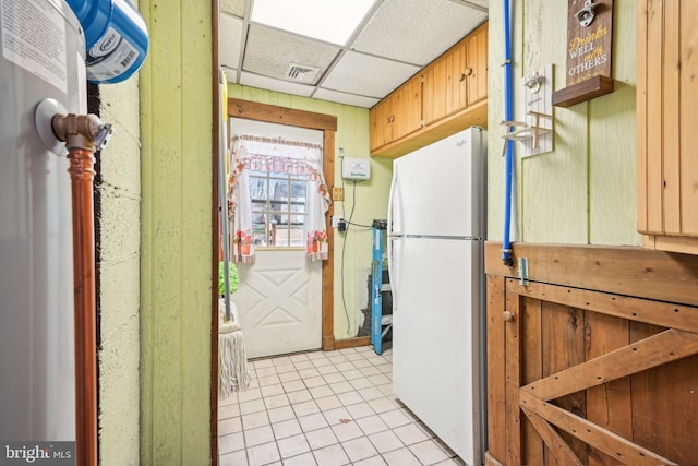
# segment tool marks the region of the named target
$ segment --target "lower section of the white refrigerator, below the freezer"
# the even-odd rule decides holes
[[[393,239],[395,395],[467,464],[481,464],[481,241]]]

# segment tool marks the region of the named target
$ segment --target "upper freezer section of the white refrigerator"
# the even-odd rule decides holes
[[[484,236],[484,138],[469,129],[394,162],[389,235]]]

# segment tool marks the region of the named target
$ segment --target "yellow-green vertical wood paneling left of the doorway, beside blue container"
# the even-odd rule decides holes
[[[141,464],[210,463],[212,7],[141,0]]]

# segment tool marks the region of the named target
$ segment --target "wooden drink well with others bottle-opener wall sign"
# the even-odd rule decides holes
[[[567,87],[553,94],[558,107],[613,92],[613,0],[567,1]]]

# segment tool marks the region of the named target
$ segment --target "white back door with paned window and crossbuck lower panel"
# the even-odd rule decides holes
[[[323,131],[240,118],[230,118],[229,128],[236,160],[250,160],[233,170],[228,224],[240,276],[230,300],[248,357],[320,349],[322,261],[306,255],[320,194],[312,172],[302,168],[310,157],[322,167]],[[320,217],[325,220],[324,213]]]

